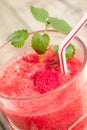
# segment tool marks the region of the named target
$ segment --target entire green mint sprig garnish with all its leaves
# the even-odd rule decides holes
[[[68,33],[71,31],[71,26],[64,20],[59,18],[50,17],[47,10],[44,8],[38,8],[31,6],[30,11],[35,20],[42,22],[45,24],[44,32],[41,34],[40,32],[32,35],[31,38],[31,46],[38,53],[43,54],[46,52],[49,43],[50,37],[47,34],[47,31],[52,28],[58,31],[59,33]],[[8,41],[11,42],[15,47],[21,48],[25,41],[29,37],[29,32],[27,30],[18,30],[13,32],[8,37]],[[58,56],[58,45],[53,47],[56,55]],[[75,47],[73,45],[69,45],[66,49],[66,58],[69,59],[75,54]]]

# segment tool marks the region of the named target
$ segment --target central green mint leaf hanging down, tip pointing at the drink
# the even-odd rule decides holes
[[[41,35],[40,33],[35,33],[32,36],[32,47],[33,49],[39,53],[43,54],[47,50],[47,47],[49,45],[50,38],[47,34]]]

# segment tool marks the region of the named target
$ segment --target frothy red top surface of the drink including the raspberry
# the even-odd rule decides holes
[[[1,68],[0,92],[13,97],[32,97],[59,88],[78,72],[82,64],[76,57],[67,63],[69,73],[62,74],[54,51],[48,50],[42,57],[37,53],[21,53]]]

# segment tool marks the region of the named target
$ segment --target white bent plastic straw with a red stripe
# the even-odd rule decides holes
[[[66,38],[62,41],[59,46],[59,60],[61,71],[66,74],[68,73],[67,61],[65,57],[65,49],[69,45],[69,42],[75,37],[75,35],[80,31],[80,29],[86,24],[87,22],[87,14],[85,14],[79,23],[71,30],[71,32],[66,36]]]

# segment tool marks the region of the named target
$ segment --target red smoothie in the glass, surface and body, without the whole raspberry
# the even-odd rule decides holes
[[[49,55],[45,55],[42,60],[39,60],[37,54],[24,54],[2,68],[0,93],[22,98],[40,96],[28,100],[2,98],[5,108],[1,110],[14,130],[67,130],[81,116],[79,85],[72,83],[61,91],[47,91],[44,96],[34,89],[34,75],[38,70],[49,69],[58,73],[60,88],[77,73],[81,62],[73,57],[68,61],[68,67],[69,74],[63,75],[57,58],[50,53],[50,58]]]

